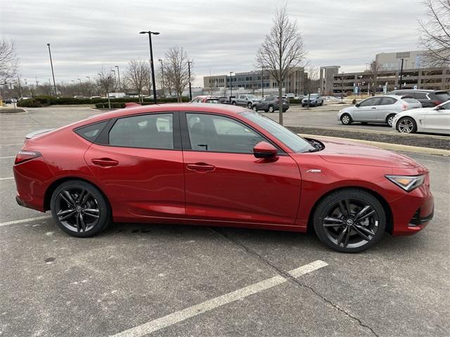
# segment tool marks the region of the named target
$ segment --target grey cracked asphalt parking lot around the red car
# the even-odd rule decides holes
[[[77,239],[15,204],[12,165],[30,131],[91,114],[0,114],[0,336],[450,335],[449,157],[407,154],[431,171],[435,218],[364,253],[314,234],[176,224]]]

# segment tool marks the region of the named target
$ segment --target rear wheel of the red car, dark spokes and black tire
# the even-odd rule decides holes
[[[108,201],[96,187],[83,180],[68,180],[56,187],[50,205],[58,227],[74,237],[91,237],[110,223]]]

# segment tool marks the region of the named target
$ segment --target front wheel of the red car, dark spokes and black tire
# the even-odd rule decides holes
[[[314,230],[330,249],[359,253],[383,237],[386,212],[371,193],[357,188],[323,198],[314,211]]]

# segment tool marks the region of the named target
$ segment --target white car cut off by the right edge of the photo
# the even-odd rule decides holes
[[[401,133],[450,134],[450,100],[437,107],[423,107],[400,112],[392,120],[392,128]]]

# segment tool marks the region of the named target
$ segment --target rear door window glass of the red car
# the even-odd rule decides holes
[[[117,119],[110,130],[109,144],[148,149],[173,149],[172,114],[144,114]]]

